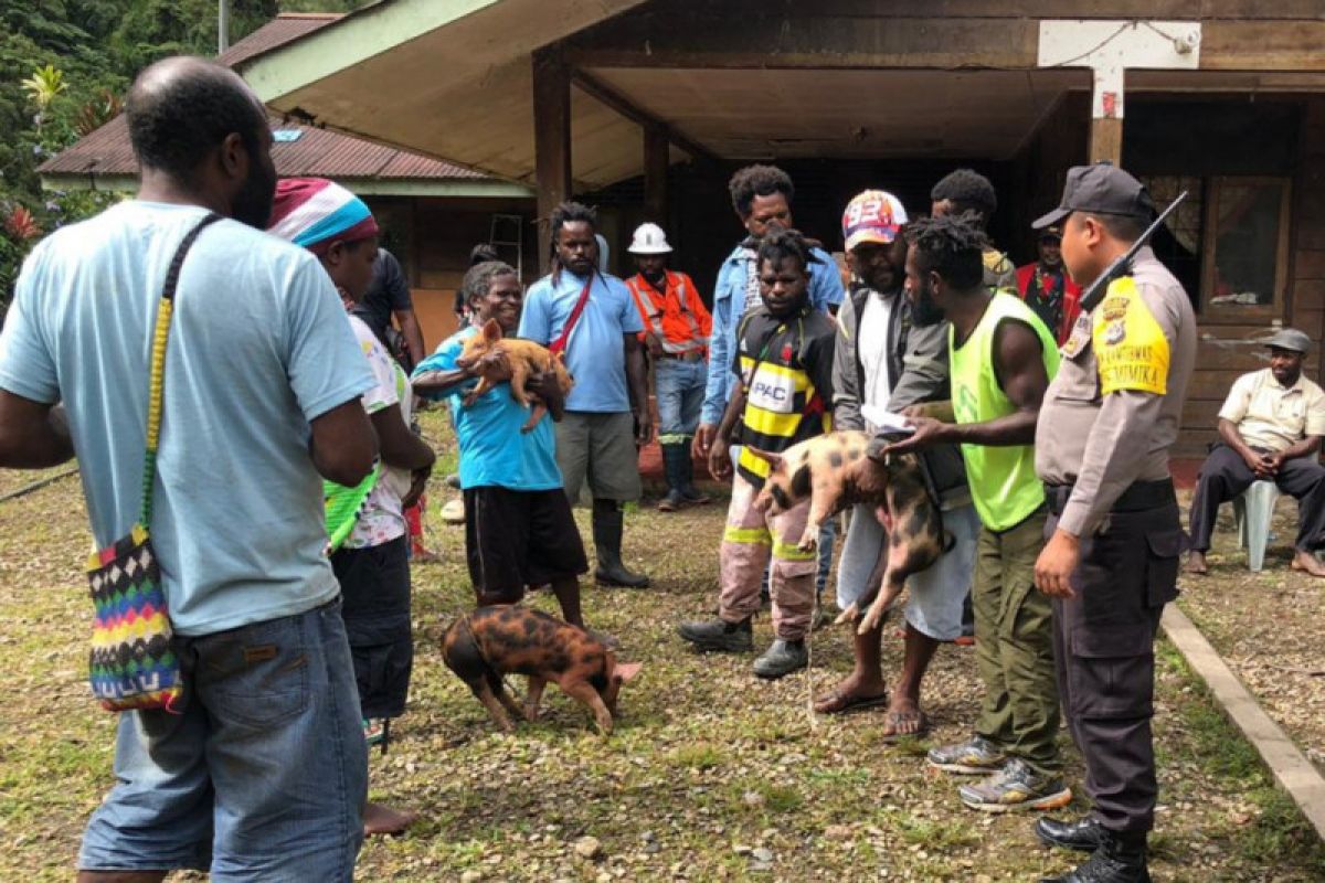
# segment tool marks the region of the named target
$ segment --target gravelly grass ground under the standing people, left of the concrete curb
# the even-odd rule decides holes
[[[444,443],[436,412],[427,418]],[[433,510],[444,495],[437,482]],[[411,710],[391,753],[372,759],[374,797],[424,818],[405,837],[368,843],[359,879],[988,882],[1069,866],[1072,857],[1035,842],[1027,817],[962,809],[951,781],[925,770],[928,743],[881,745],[877,715],[807,718],[808,691],[849,666],[844,631],[816,633],[812,671],[772,684],[750,674],[750,657],[681,646],[676,621],[714,602],[721,504],[631,515],[627,557],[655,588],[586,590],[590,622],[644,662],[608,740],[555,688],[546,720],[513,736],[494,729],[441,665],[436,637],[470,596],[461,530],[436,518],[431,527],[443,563],[415,571]],[[0,707],[0,880],[64,880],[111,781],[114,723],[81,680],[89,604],[77,481],[0,504],[0,666],[12,684]],[[550,608],[542,594],[533,602]],[[755,633],[767,642],[766,618]],[[1325,879],[1325,847],[1255,752],[1167,645],[1159,655],[1155,879]],[[893,671],[900,658],[889,638]],[[926,684],[937,740],[965,735],[977,698],[971,653],[943,647]],[[586,837],[598,841],[594,858],[575,851]]]

